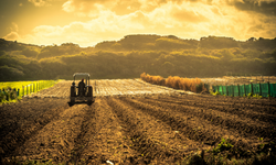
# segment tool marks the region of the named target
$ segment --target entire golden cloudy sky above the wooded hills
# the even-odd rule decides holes
[[[0,37],[82,47],[128,34],[276,37],[276,0],[0,0]]]

